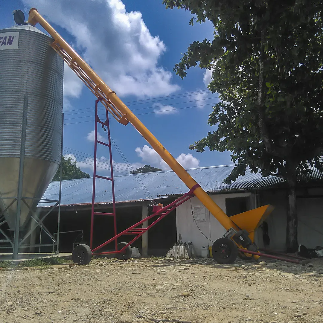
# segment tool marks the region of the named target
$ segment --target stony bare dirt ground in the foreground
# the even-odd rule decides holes
[[[0,270],[0,322],[319,323],[322,281],[318,259],[306,266],[97,259],[87,266]]]

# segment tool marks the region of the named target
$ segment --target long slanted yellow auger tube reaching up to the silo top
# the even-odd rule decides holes
[[[76,53],[76,51],[74,51],[73,48],[68,45],[68,43],[55,31],[55,29],[50,26],[50,24],[38,13],[35,8],[32,8],[29,11],[28,23],[33,26],[39,23],[49,33],[49,35],[54,38],[54,45],[52,45],[52,47],[57,50],[55,44],[59,45],[59,47],[62,48],[70,58],[72,58],[72,63],[76,63],[77,68],[84,71],[86,76],[95,84],[94,89],[97,90],[95,95],[99,97],[100,93],[103,93],[111,105],[113,105],[113,107],[117,108],[123,114],[119,122],[126,124],[127,121],[129,121],[189,189],[192,189],[197,184],[197,182],[195,182],[188,172],[185,171],[179,162],[176,161],[176,159],[162,146],[162,144],[141,123],[141,121],[131,112],[131,110],[119,99],[116,93],[103,82],[103,80],[89,67],[89,65]],[[59,54],[62,54],[62,52],[59,52]],[[73,67],[71,68],[73,69]],[[80,77],[79,74],[78,76]],[[222,209],[201,187],[196,188],[194,190],[194,194],[226,230],[229,230],[230,228],[239,229],[237,225],[234,224],[234,222],[222,211]]]

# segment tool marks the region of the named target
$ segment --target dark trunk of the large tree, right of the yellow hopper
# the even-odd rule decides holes
[[[295,182],[296,181],[293,181],[293,180],[287,181],[288,183],[287,227],[286,227],[287,252],[296,252],[298,250]]]

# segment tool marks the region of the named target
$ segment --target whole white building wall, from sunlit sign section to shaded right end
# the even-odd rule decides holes
[[[312,190],[310,194],[323,193],[318,189]],[[287,197],[285,190],[262,191],[257,199],[258,207],[271,204],[274,211],[268,216],[268,231],[270,238],[269,249],[285,249],[286,241],[286,213]],[[301,195],[298,193],[297,195]],[[225,212],[225,199],[230,197],[250,196],[251,208],[255,207],[255,195],[253,193],[232,193],[210,195],[215,203]],[[193,197],[176,208],[177,240],[181,234],[182,242],[192,241],[196,255],[201,255],[202,246],[211,246],[212,242],[223,236],[225,229],[214,218],[210,216],[206,209],[206,219],[204,222],[197,222],[198,227],[207,237],[204,237],[193,220],[191,203],[193,206],[202,206],[202,203]],[[298,214],[298,242],[307,248],[323,246],[323,198],[322,197],[302,197],[297,198]],[[262,230],[259,228],[255,234],[255,243],[258,247],[263,247]]]

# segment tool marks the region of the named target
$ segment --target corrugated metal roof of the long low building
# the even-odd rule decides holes
[[[262,177],[245,172],[231,184],[224,184],[224,179],[231,173],[234,165],[211,166],[189,169],[187,172],[198,182],[207,193],[255,190],[273,187],[283,180],[274,177]],[[323,173],[313,169],[310,175],[303,178],[305,181],[322,180]],[[62,181],[61,205],[79,205],[92,203],[93,178]],[[114,177],[116,202],[149,201],[169,195],[181,195],[189,191],[186,185],[173,171],[129,174]],[[147,191],[149,193],[147,193]],[[43,199],[58,200],[59,182],[51,182]],[[151,196],[149,195],[151,194]],[[112,203],[111,183],[98,178],[96,181],[95,202],[97,204]],[[54,205],[46,203],[46,206]],[[39,204],[44,206],[44,203]]]

